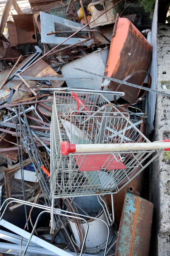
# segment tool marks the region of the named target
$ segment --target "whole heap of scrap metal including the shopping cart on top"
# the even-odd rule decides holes
[[[170,150],[145,127],[147,92],[170,96],[150,89],[149,15],[29,3],[7,0],[0,22],[0,253],[147,256],[142,171]]]

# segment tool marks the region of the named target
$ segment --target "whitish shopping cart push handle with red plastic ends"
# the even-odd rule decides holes
[[[167,143],[167,148],[164,143]],[[116,144],[70,144],[62,141],[61,154],[66,156],[70,153],[81,152],[112,152],[112,151],[133,151],[133,150],[159,150],[170,151],[170,140],[144,142],[144,143],[116,143]]]

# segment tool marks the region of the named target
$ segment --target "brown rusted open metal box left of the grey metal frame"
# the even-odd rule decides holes
[[[14,22],[7,21],[11,47],[22,44],[36,44],[37,34],[33,14],[12,15]]]

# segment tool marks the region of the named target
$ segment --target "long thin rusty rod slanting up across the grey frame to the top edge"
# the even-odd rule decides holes
[[[103,12],[101,15],[99,15],[98,17],[96,17],[94,20],[91,20],[88,24],[86,24],[85,26],[83,26],[81,29],[78,29],[77,32],[75,32],[73,35],[70,35],[68,38],[66,38],[64,41],[62,41],[62,43],[58,44],[57,46],[55,46],[53,49],[51,49],[49,52],[45,53],[44,55],[42,55],[39,59],[37,59],[36,61],[34,61],[29,67],[27,67],[25,70],[23,70],[21,73],[23,73],[24,71],[26,71],[28,68],[30,68],[32,65],[34,65],[35,63],[37,63],[38,61],[40,61],[42,58],[44,58],[45,56],[47,56],[49,53],[53,52],[54,49],[57,49],[59,46],[61,46],[63,43],[65,43],[68,39],[70,39],[71,37],[73,37],[74,35],[76,35],[78,32],[80,32],[82,29],[86,28],[87,26],[89,26],[92,22],[94,22],[95,20],[97,20],[99,17],[101,17],[102,15],[104,15],[106,12],[110,11],[111,9],[113,9],[113,7],[115,7],[116,5],[118,5],[119,3],[121,3],[123,0],[119,0],[119,2],[115,3],[111,8],[109,8],[108,10],[106,10],[105,12]],[[20,74],[21,74],[20,73]]]

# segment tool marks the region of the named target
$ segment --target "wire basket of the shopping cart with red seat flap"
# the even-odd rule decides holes
[[[101,95],[56,94],[51,122],[51,197],[102,195],[118,192],[154,158],[156,150],[81,152],[62,155],[62,141],[74,144],[149,142]],[[80,102],[81,101],[81,102]],[[78,104],[81,103],[81,104]],[[81,107],[80,107],[81,105]]]

